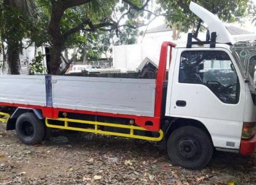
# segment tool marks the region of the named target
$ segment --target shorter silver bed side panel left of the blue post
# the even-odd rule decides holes
[[[44,81],[44,76],[1,75],[0,102],[45,106]]]

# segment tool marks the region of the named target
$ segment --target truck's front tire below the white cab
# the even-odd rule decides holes
[[[194,126],[183,126],[171,133],[167,151],[174,165],[199,170],[212,158],[213,145],[205,131]]]

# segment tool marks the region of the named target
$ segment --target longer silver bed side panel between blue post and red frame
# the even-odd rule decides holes
[[[154,116],[155,80],[52,76],[52,105]]]

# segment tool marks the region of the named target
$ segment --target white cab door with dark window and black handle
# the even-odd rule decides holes
[[[166,115],[200,121],[215,147],[239,149],[245,87],[230,52],[179,48],[176,56],[169,72]]]

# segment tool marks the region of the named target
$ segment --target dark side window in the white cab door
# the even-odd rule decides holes
[[[184,51],[179,82],[205,85],[226,104],[239,101],[239,80],[224,51]]]

